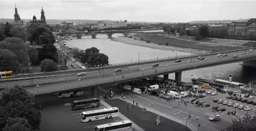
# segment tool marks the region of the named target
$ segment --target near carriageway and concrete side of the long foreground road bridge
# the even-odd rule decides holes
[[[237,58],[233,55],[236,54]],[[203,67],[211,67],[221,64],[229,64],[238,61],[251,61],[256,59],[256,51],[239,51],[227,54],[225,57],[218,57],[216,55],[206,56],[205,60],[198,60],[196,58],[184,59],[181,62],[168,61],[159,63],[158,67],[152,67],[152,64],[139,65],[134,67],[128,67],[126,69],[136,69],[130,72],[114,73],[113,70],[109,71],[106,76],[96,76],[93,78],[86,78],[83,80],[73,80],[70,82],[63,82],[57,84],[50,84],[39,87],[26,88],[30,93],[34,95],[40,95],[45,93],[55,93],[64,90],[72,90],[85,87],[95,87],[106,83],[119,83],[124,81],[136,80],[145,77],[154,77],[169,73],[180,73],[185,70],[193,70]]]

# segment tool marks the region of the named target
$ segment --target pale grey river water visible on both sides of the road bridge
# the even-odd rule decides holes
[[[112,37],[119,37],[119,35],[121,34],[113,34]],[[100,49],[100,52],[106,54],[109,57],[110,64],[138,61],[138,54],[140,60],[153,60],[154,57],[155,60],[157,60],[157,58],[174,57],[176,56],[176,53],[177,56],[190,54],[185,52],[164,51],[160,49],[128,45],[122,42],[111,41],[107,38],[107,35],[102,34],[96,35],[96,39],[92,39],[91,36],[83,36],[81,39],[74,38],[71,41],[67,41],[66,45],[70,47],[80,48],[83,50],[91,47],[96,47]],[[211,80],[229,80],[229,75],[232,75],[233,81],[240,83],[251,82],[252,87],[255,88],[256,68],[241,66],[239,65],[241,63],[242,62],[183,71],[182,81],[191,81],[193,77],[206,78]],[[169,74],[169,78],[175,79],[175,74]]]

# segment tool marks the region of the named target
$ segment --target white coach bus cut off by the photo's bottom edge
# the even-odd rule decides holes
[[[133,123],[129,120],[98,125],[95,131],[133,131]]]

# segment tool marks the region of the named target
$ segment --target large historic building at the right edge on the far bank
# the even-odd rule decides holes
[[[250,33],[256,36],[256,19],[249,19],[247,22],[231,22],[228,26],[230,37],[246,38]]]

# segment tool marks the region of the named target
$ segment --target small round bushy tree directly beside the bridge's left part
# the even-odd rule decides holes
[[[50,59],[44,59],[40,64],[41,71],[49,72],[58,70],[57,64]]]

